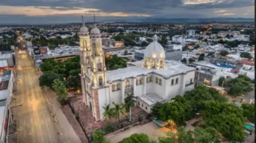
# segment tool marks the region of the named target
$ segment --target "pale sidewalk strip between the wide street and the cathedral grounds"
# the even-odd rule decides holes
[[[54,122],[54,126],[56,127],[55,130],[59,134],[59,139],[61,143],[81,143],[81,140],[73,130],[72,126],[69,124],[69,121],[66,119],[66,116],[63,114],[61,110],[60,103],[57,101],[57,96],[51,89],[47,89],[51,105],[49,106],[51,110],[51,117],[52,121],[57,120]],[[46,98],[48,96],[46,95]],[[54,113],[56,113],[54,117]]]

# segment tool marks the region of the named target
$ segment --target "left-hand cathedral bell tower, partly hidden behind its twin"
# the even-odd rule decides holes
[[[78,32],[78,36],[80,39],[80,65],[81,65],[81,87],[83,93],[83,101],[87,104],[87,96],[86,96],[86,76],[87,68],[90,68],[90,55],[91,55],[91,47],[90,47],[90,35],[88,32],[88,28],[84,25],[84,19],[82,16],[82,26]]]

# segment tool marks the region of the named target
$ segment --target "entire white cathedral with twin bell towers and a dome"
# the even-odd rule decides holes
[[[165,60],[165,51],[153,37],[144,59],[128,63],[125,69],[106,71],[102,38],[94,25],[90,34],[83,26],[80,37],[81,86],[84,103],[90,107],[96,121],[104,119],[107,104],[122,104],[128,92],[137,97],[137,106],[146,112],[157,102],[169,101],[194,89],[195,70],[182,63]]]

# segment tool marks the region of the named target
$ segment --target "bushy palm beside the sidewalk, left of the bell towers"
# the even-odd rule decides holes
[[[62,81],[55,79],[52,83],[52,87],[54,91],[57,93],[57,99],[59,101],[66,101],[67,97],[65,84]]]

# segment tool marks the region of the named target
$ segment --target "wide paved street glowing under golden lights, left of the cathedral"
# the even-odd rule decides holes
[[[26,53],[18,54],[18,85],[13,109],[17,123],[18,143],[58,143],[57,133],[49,115],[38,77]]]

